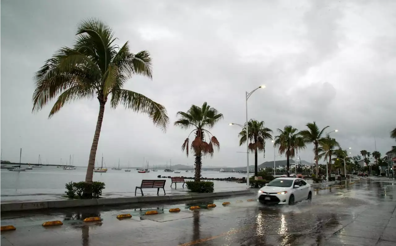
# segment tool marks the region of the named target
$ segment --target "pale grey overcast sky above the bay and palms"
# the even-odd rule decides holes
[[[2,159],[88,164],[99,103],[78,101],[48,119],[52,104],[32,114],[33,75],[62,46],[70,46],[82,19],[106,21],[132,52],[150,51],[152,80],[135,77],[126,89],[166,106],[168,131],[146,115],[106,106],[97,150],[107,167],[192,165],[181,145],[177,111],[208,104],[224,114],[211,132],[221,149],[204,166],[246,165],[237,126],[245,121],[245,91],[265,84],[248,101],[248,116],[274,130],[329,125],[340,144],[385,154],[394,140],[396,2],[369,1],[0,1],[0,148]],[[311,161],[313,146],[299,153]],[[265,159],[273,161],[267,141]],[[286,159],[277,157],[278,160]],[[254,155],[250,156],[251,164]]]

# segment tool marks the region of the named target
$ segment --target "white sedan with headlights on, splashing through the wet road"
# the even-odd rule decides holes
[[[262,187],[257,199],[263,204],[289,204],[312,199],[311,185],[301,178],[276,178]]]

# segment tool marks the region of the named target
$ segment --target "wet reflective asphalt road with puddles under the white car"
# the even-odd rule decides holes
[[[262,206],[256,201],[248,202],[251,198],[255,197],[163,204],[142,211],[119,206],[2,214],[0,225],[15,225],[17,230],[0,233],[0,245],[396,245],[396,181],[365,179],[345,188],[314,191],[312,202],[294,206]],[[231,204],[222,206],[226,201]],[[217,207],[188,209],[208,203]],[[168,212],[176,207],[181,212]],[[143,215],[152,209],[158,209],[160,214]],[[117,220],[116,215],[121,213],[133,217]],[[83,218],[95,215],[100,215],[103,221],[82,222]],[[41,226],[51,220],[64,224]]]

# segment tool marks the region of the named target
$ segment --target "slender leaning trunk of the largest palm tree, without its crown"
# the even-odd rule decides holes
[[[84,191],[83,197],[92,198],[92,177],[93,177],[93,169],[95,168],[95,157],[96,150],[99,142],[100,130],[102,128],[103,114],[105,113],[105,102],[99,99],[99,115],[96,123],[95,134],[93,135],[93,141],[91,146],[91,152],[89,153],[87,174],[85,176],[86,189]]]

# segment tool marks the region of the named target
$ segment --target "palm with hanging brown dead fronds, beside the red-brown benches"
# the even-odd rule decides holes
[[[195,181],[201,180],[201,167],[202,167],[202,156],[210,155],[213,156],[213,147],[220,149],[220,143],[213,134],[211,134],[208,129],[214,127],[214,125],[223,119],[223,114],[215,108],[211,108],[207,102],[202,104],[202,107],[192,105],[187,112],[179,111],[177,116],[180,118],[175,121],[174,125],[182,129],[188,129],[192,127],[192,132],[194,132],[195,138],[191,142],[191,149],[194,151],[195,155]],[[188,156],[188,145],[189,137],[184,141],[181,149],[186,150]],[[208,141],[208,142],[206,142]]]

